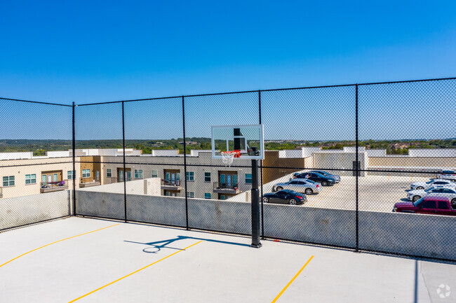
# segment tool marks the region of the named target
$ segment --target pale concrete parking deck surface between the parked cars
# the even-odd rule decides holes
[[[355,209],[356,177],[342,176],[340,183],[323,187],[318,195],[308,195],[306,207],[328,209]],[[391,212],[397,202],[405,202],[410,184],[429,181],[424,177],[405,176],[365,176],[358,178],[361,211]]]

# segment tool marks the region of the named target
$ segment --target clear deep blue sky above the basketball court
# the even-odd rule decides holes
[[[1,97],[83,104],[456,76],[454,1],[1,1],[0,9]],[[232,97],[234,104],[239,104],[236,98],[246,99],[246,107],[254,111],[255,97]],[[153,104],[147,105],[148,111],[137,108],[138,113],[150,113],[160,123],[151,122],[149,128],[142,128],[142,134],[133,132],[131,136],[179,134],[182,126],[163,118],[163,113],[173,117],[181,113],[179,101],[173,102],[176,105],[166,105],[168,110]],[[254,120],[253,113],[215,114],[220,111],[216,104],[227,104],[223,99],[194,102],[186,109],[192,114],[188,134],[201,134],[200,122],[208,117],[219,118],[207,125],[251,124]],[[8,106],[14,110],[14,105]],[[341,108],[347,109],[340,104],[333,107],[339,109],[328,109],[324,115],[291,108],[296,113],[286,113],[286,119],[297,115],[334,118]],[[291,139],[288,137],[294,133],[274,119],[274,105],[263,110],[264,123],[269,119],[269,134],[274,134],[271,139],[282,134]],[[118,115],[114,109],[102,113],[106,120],[99,121],[100,125],[112,125]],[[90,114],[85,117],[89,119]],[[394,115],[390,113],[389,118]],[[140,125],[133,120],[145,119],[136,115],[128,124]],[[344,114],[335,120],[333,125],[342,125],[335,133],[321,133],[320,128],[308,125],[309,133],[320,134],[305,136],[351,139],[350,119]],[[217,123],[219,120],[224,123]],[[89,123],[78,126],[79,134],[90,132],[85,125]],[[173,130],[166,130],[170,127]],[[106,128],[106,132],[79,139],[108,136],[118,129]],[[265,134],[267,129],[265,125]],[[447,135],[398,134],[391,129],[394,127],[363,136]],[[8,134],[0,133],[5,136]]]

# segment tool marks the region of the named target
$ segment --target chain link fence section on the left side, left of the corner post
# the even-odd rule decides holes
[[[72,107],[0,99],[0,230],[72,214]]]

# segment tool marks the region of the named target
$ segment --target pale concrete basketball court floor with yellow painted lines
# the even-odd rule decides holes
[[[0,243],[0,302],[456,302],[450,262],[75,217]]]

